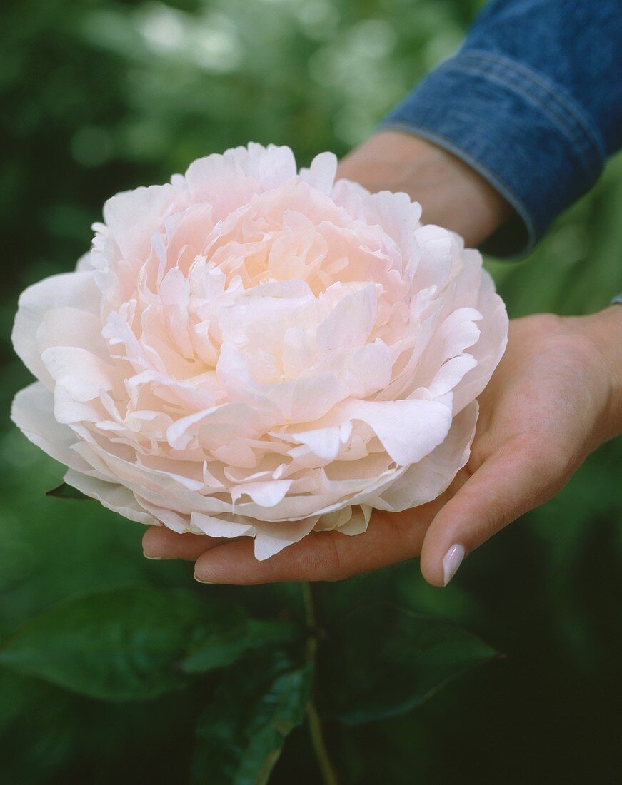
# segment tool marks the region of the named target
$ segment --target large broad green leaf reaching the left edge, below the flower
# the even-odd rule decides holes
[[[205,604],[129,586],[64,601],[0,645],[0,666],[92,698],[143,700],[185,683],[179,662]]]

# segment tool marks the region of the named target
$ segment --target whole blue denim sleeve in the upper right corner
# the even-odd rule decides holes
[[[484,250],[529,250],[622,146],[622,2],[493,0],[381,128],[473,166],[516,211]]]

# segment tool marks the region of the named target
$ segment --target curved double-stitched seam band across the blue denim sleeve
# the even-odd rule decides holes
[[[602,152],[602,144],[598,144],[598,141],[595,141],[595,136],[590,126],[583,121],[573,103],[569,100],[562,100],[550,86],[547,86],[543,79],[533,74],[528,68],[521,64],[514,64],[512,60],[506,60],[503,57],[489,57],[487,53],[485,53],[485,56],[474,53],[462,53],[451,60],[446,60],[438,69],[438,71],[443,70],[467,71],[514,90],[515,93],[520,94],[539,107],[551,119],[554,125],[569,138],[573,145],[578,148],[576,152],[580,157],[581,164],[591,177],[598,175],[598,172],[602,169],[605,157]],[[521,77],[525,81],[519,81]],[[536,89],[529,89],[533,87],[536,87]],[[549,100],[550,104],[547,104],[543,99]],[[560,112],[562,113],[560,114]],[[566,116],[564,112],[569,116]],[[585,162],[581,154],[587,155],[590,161]]]

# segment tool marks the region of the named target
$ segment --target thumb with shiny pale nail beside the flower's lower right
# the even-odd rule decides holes
[[[558,456],[534,436],[514,436],[459,488],[430,524],[421,571],[432,586],[446,586],[463,558],[497,531],[548,501],[563,485]]]

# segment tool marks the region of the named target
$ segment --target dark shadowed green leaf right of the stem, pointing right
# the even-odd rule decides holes
[[[322,708],[350,725],[404,714],[495,655],[445,619],[364,605],[327,630],[320,647]]]

